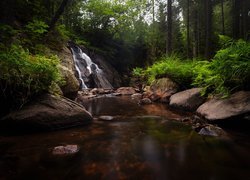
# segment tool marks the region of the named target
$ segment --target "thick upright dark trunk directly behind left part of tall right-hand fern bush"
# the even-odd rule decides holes
[[[212,4],[211,0],[205,0],[205,22],[206,22],[206,32],[205,32],[205,58],[210,59],[212,56]]]

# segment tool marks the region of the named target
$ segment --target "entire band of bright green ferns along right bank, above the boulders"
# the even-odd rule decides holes
[[[212,61],[164,57],[146,70],[135,68],[133,75],[146,76],[149,83],[167,76],[184,87],[202,87],[203,95],[227,97],[236,90],[249,90],[250,43],[225,36],[221,42],[227,47],[219,50]]]

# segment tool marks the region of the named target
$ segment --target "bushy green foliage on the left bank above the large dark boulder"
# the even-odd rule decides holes
[[[61,82],[57,56],[31,55],[22,47],[12,45],[0,52],[1,94],[19,105],[31,96],[48,91],[52,82]]]

